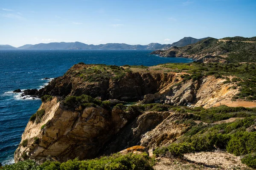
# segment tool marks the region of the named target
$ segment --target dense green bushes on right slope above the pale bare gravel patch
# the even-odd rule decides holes
[[[236,156],[246,155],[242,161],[250,167],[253,167],[253,164],[255,166],[256,108],[231,108],[224,105],[209,109],[171,106],[169,111],[186,114],[175,123],[186,125],[187,128],[176,142],[167,147],[157,148],[154,151],[155,155],[182,158],[184,153],[219,148]],[[236,117],[236,121],[212,124],[231,117]],[[202,122],[197,124],[195,120]]]

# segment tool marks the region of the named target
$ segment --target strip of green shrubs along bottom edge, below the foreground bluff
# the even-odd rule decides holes
[[[5,165],[3,170],[153,170],[154,161],[148,155],[113,154],[99,159],[79,161],[69,160],[63,163],[58,161],[45,161],[38,165],[35,161],[26,160],[16,164]]]

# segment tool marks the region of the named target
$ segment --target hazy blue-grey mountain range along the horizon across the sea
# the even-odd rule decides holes
[[[40,44],[27,44],[21,47],[13,47],[11,45],[0,45],[0,49],[81,49],[81,50],[90,50],[90,49],[105,49],[105,50],[166,50],[172,46],[183,47],[192,43],[196,43],[205,38],[196,39],[192,37],[184,37],[183,39],[174,42],[172,44],[159,44],[159,43],[150,43],[148,45],[128,45],[124,43],[107,43],[100,45],[88,45],[82,42],[50,42],[50,43],[40,43]]]

